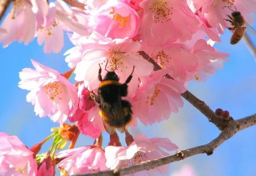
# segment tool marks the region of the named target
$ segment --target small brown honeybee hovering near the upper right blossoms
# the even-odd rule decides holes
[[[233,35],[230,39],[230,44],[234,45],[237,44],[243,35],[245,34],[244,25],[246,24],[245,19],[241,15],[239,11],[233,11],[231,16],[228,15],[229,19],[225,19],[226,21],[230,22],[233,27],[228,28],[230,31],[233,32]]]

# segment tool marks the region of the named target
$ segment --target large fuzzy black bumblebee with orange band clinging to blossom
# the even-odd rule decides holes
[[[99,64],[100,66],[100,64]],[[106,70],[106,68],[105,68]],[[126,79],[125,83],[119,83],[119,78],[114,71],[107,71],[104,79],[101,77],[101,66],[98,70],[98,79],[101,81],[98,87],[98,96],[91,93],[92,99],[100,104],[100,115],[104,122],[104,127],[109,134],[115,132],[117,128],[120,132],[125,131],[125,126],[131,121],[131,104],[121,97],[127,96],[127,84],[133,77],[133,71]]]

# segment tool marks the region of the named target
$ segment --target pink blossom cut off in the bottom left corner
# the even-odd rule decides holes
[[[17,136],[0,132],[0,174],[35,176],[38,165],[30,151]]]

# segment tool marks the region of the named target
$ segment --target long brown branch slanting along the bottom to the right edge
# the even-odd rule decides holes
[[[247,127],[256,125],[256,114],[251,115],[249,117],[245,117],[234,121],[230,119],[226,122],[225,129],[220,133],[220,135],[210,141],[210,143],[205,145],[200,145],[198,147],[189,148],[184,151],[179,151],[170,156],[166,156],[163,158],[159,158],[151,161],[144,161],[138,165],[133,165],[125,168],[119,168],[108,171],[100,171],[98,173],[89,173],[89,174],[78,174],[76,176],[100,176],[100,175],[125,175],[135,173],[137,171],[153,169],[158,166],[170,164],[171,162],[184,160],[185,158],[194,156],[196,154],[206,153],[207,155],[213,154],[214,150],[224,143],[229,138],[232,138],[238,131],[241,131]]]

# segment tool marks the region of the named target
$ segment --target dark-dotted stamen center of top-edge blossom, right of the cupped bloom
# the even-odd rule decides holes
[[[164,0],[158,0],[155,1],[152,6],[150,7],[150,10],[152,11],[152,14],[154,15],[155,23],[163,23],[168,22],[171,20],[170,15],[172,7],[167,6],[167,2]]]

